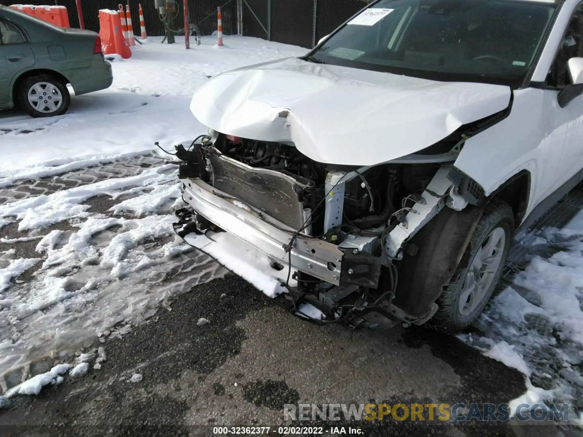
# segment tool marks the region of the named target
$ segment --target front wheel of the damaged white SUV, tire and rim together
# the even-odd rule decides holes
[[[507,203],[494,200],[486,206],[469,242],[469,262],[458,267],[437,299],[430,326],[454,333],[476,321],[500,280],[513,232],[514,214]]]

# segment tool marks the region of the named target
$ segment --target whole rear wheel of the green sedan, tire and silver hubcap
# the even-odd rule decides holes
[[[17,93],[20,106],[32,117],[65,114],[71,103],[66,84],[51,75],[27,77]]]

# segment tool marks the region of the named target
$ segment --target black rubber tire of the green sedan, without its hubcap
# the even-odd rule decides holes
[[[46,87],[45,84],[51,84],[61,93],[60,104],[57,105],[58,107],[56,110],[51,111],[51,107],[49,105],[54,96],[44,96],[47,98],[47,100],[43,101],[40,100],[41,95],[38,94],[39,103],[36,106],[29,101],[29,91],[33,89],[34,86],[38,86],[40,89],[43,89]],[[57,77],[48,74],[27,77],[22,81],[22,83],[20,83],[16,93],[16,100],[18,101],[20,107],[31,117],[54,117],[55,115],[62,115],[65,114],[65,112],[69,109],[69,105],[71,104],[71,94],[69,94],[69,90],[67,89],[66,84],[62,83],[62,81],[57,79]],[[36,93],[36,91],[33,91],[33,93]],[[41,106],[43,104],[45,105]]]

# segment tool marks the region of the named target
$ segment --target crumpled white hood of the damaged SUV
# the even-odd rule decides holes
[[[222,73],[190,109],[229,135],[292,142],[329,164],[374,165],[429,147],[504,110],[509,87],[435,82],[289,58]]]

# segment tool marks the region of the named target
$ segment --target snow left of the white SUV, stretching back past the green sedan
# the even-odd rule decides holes
[[[180,37],[174,45],[148,39],[151,44],[132,47],[131,58],[113,63],[110,89],[73,96],[65,115],[32,119],[0,111],[0,189],[153,151],[175,160],[154,142],[173,151],[173,145],[206,133],[189,104],[208,77],[305,54],[303,48],[259,38],[226,36],[230,49],[215,50],[216,38],[203,37],[189,51]],[[4,241],[38,239],[38,258],[0,252],[0,378],[43,357],[74,357],[86,341],[123,336],[161,302],[226,274],[174,235],[172,209],[182,203],[177,170],[167,163],[0,205],[0,228],[18,221],[22,232]],[[111,196],[115,205],[105,214],[94,212],[84,203],[96,195]],[[45,229],[63,222],[65,230]],[[33,266],[40,269],[26,283],[15,281]],[[73,374],[88,369],[90,359],[77,357]],[[103,361],[101,349],[93,367]],[[30,384],[59,383],[57,376],[36,375]]]

